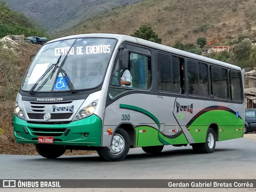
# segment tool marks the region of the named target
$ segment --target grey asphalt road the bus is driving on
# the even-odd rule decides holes
[[[61,156],[0,155],[0,179],[255,179],[256,140],[240,138],[216,143],[212,154],[194,154],[191,146],[165,146],[158,154],[130,149],[121,162],[102,162],[98,154]],[[254,191],[254,189],[162,189],[159,191]],[[10,189],[6,191],[23,191]],[[28,189],[24,189],[28,191]],[[37,191],[94,191],[94,189],[30,189]],[[95,189],[95,191],[151,191]],[[157,191],[153,189],[152,191]]]

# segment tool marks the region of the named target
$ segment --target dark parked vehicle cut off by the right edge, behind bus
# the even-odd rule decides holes
[[[244,133],[256,131],[256,109],[245,109]]]

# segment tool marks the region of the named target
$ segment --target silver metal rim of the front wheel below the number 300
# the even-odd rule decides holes
[[[124,137],[120,134],[115,134],[111,143],[111,146],[108,146],[108,152],[112,155],[118,155],[124,150]]]

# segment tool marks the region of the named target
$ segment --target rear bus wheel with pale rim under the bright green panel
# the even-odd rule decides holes
[[[214,130],[210,127],[206,133],[206,142],[199,143],[200,150],[202,153],[212,153],[214,152],[216,144],[216,134]]]

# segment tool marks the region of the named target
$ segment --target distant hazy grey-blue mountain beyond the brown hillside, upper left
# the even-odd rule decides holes
[[[3,1],[3,0],[0,0]],[[47,32],[65,30],[76,24],[109,11],[142,0],[4,0],[11,9],[23,12],[36,20]]]

